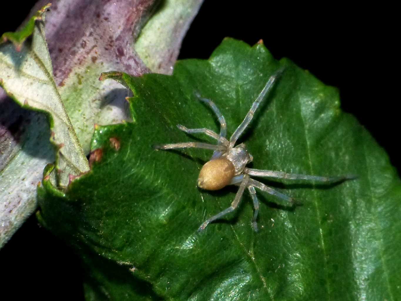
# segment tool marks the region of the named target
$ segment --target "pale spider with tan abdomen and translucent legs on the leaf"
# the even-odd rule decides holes
[[[220,134],[217,134],[216,132],[213,132],[212,130],[209,130],[207,128],[186,128],[185,126],[182,126],[180,124],[178,124],[177,127],[187,134],[206,134],[207,136],[215,138],[217,140],[217,144],[214,145],[202,142],[182,142],[154,146],[156,150],[166,150],[174,148],[205,148],[214,150],[210,161],[203,165],[199,173],[198,187],[205,190],[219,190],[227,185],[239,186],[239,189],[237,191],[237,194],[235,195],[234,201],[231,203],[231,206],[203,222],[203,224],[201,224],[201,226],[198,228],[198,231],[204,230],[211,222],[237,209],[245,189],[248,189],[249,194],[251,195],[251,198],[253,200],[253,207],[255,211],[253,214],[252,226],[255,232],[257,232],[256,218],[259,212],[259,201],[256,196],[255,188],[284,199],[285,201],[288,201],[291,205],[294,204],[293,198],[283,193],[280,193],[279,191],[268,187],[265,184],[256,181],[255,179],[252,179],[250,176],[290,180],[302,179],[318,181],[322,183],[336,183],[347,179],[354,179],[354,176],[347,175],[338,177],[320,177],[314,175],[298,175],[284,173],[282,171],[271,171],[246,167],[246,165],[253,160],[253,157],[247,151],[244,143],[238,144],[237,146],[235,146],[235,143],[237,142],[241,134],[243,134],[245,129],[249,126],[249,123],[251,122],[258,106],[261,104],[266,94],[273,87],[273,84],[282,72],[283,69],[279,69],[269,78],[262,91],[257,96],[255,102],[253,102],[251,109],[245,116],[243,122],[234,131],[230,140],[227,140],[227,138],[225,138],[227,134],[227,124],[225,122],[225,118],[220,113],[217,106],[211,100],[207,98],[201,98],[199,94],[196,94],[196,97],[200,101],[208,104],[212,108],[213,112],[216,114],[220,122]]]

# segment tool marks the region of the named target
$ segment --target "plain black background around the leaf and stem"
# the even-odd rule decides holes
[[[35,1],[2,4],[0,33],[14,31]],[[219,6],[216,6],[216,3]],[[207,59],[224,37],[253,45],[263,39],[276,59],[288,57],[327,85],[340,89],[352,113],[400,167],[398,48],[391,7],[293,7],[264,1],[206,0],[182,44],[180,59]],[[394,75],[396,74],[396,75]],[[31,217],[0,250],[1,287],[42,300],[83,299],[78,258]],[[10,290],[11,292],[11,290]]]

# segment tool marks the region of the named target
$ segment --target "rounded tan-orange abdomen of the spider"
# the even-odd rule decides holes
[[[203,165],[198,177],[198,187],[219,190],[229,185],[235,175],[233,163],[226,158],[208,161]]]

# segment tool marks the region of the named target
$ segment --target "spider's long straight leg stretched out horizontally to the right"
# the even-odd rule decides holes
[[[355,179],[354,175],[342,175],[338,177],[321,177],[313,175],[297,175],[295,173],[284,173],[282,171],[271,171],[263,169],[246,168],[244,170],[250,176],[267,177],[275,179],[289,179],[289,180],[311,180],[323,183],[337,183],[344,180]]]

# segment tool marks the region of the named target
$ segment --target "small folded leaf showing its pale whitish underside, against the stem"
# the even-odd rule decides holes
[[[89,170],[71,121],[53,79],[53,69],[44,32],[44,6],[19,32],[12,35],[10,43],[0,45],[0,85],[18,104],[25,108],[49,114],[51,142],[57,148],[57,175],[53,183],[66,187],[69,175],[77,176]],[[32,41],[26,40],[32,34]],[[4,34],[10,38],[10,34]]]

